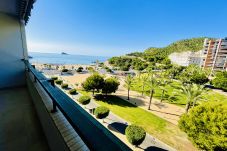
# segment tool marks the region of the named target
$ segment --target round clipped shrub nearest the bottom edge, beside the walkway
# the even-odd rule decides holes
[[[145,130],[137,125],[129,125],[126,129],[125,129],[125,135],[126,138],[128,139],[128,141],[135,146],[140,145],[145,137],[146,137],[146,132]]]

